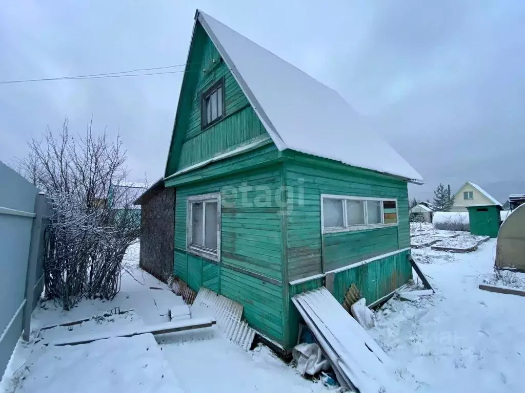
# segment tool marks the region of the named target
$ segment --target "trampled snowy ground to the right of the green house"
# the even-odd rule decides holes
[[[478,289],[494,252],[492,239],[454,261],[421,265],[436,295],[392,300],[377,314],[371,334],[413,391],[523,391],[525,298]]]

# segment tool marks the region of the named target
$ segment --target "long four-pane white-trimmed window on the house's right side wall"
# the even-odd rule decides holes
[[[397,200],[321,195],[322,232],[358,231],[397,225]]]

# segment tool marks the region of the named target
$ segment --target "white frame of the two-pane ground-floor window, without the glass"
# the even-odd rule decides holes
[[[203,202],[203,225],[202,236],[205,244],[206,231],[206,202],[217,203],[217,250],[206,247],[200,247],[192,244],[192,205],[195,202]],[[186,250],[188,253],[202,256],[207,259],[220,261],[220,192],[213,192],[209,194],[191,195],[186,198]]]

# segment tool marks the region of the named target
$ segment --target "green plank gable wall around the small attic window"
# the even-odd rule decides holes
[[[268,135],[246,96],[209,38],[205,38],[193,101],[187,116],[187,127],[177,170],[202,162],[221,152]],[[195,69],[196,69],[195,65]],[[204,130],[201,129],[201,94],[220,78],[224,78],[225,118]]]

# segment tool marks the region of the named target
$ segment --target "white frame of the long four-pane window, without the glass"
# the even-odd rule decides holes
[[[342,227],[324,227],[324,213],[323,213],[323,200],[327,199],[340,199],[343,201],[364,201],[364,225],[348,225],[348,216],[346,215],[346,202],[343,202],[343,226]],[[381,201],[381,202],[395,202],[396,207],[396,222],[385,224],[384,206],[381,203],[381,223],[380,224],[369,224],[368,223],[368,207],[366,201]],[[333,195],[333,194],[321,194],[321,233],[337,233],[337,232],[350,232],[350,231],[363,231],[374,228],[387,228],[390,226],[397,226],[399,222],[399,206],[396,198],[372,198],[367,196],[352,196],[352,195]]]

